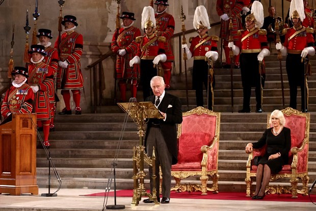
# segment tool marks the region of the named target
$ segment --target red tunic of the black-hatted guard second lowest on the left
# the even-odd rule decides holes
[[[29,85],[38,85],[39,91],[35,95],[34,111],[37,120],[50,119],[49,92],[54,86],[54,69],[41,62],[29,65]]]

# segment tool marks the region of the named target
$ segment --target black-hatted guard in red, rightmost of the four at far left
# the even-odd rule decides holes
[[[80,98],[81,89],[84,88],[84,79],[81,73],[81,55],[83,52],[83,36],[74,31],[77,18],[72,15],[65,15],[62,21],[65,33],[58,38],[55,48],[60,52],[60,66],[57,73],[57,86],[62,89],[61,94],[65,102],[65,108],[58,114],[71,114],[70,90],[75,104],[75,114],[81,114]],[[59,44],[60,43],[60,44]]]

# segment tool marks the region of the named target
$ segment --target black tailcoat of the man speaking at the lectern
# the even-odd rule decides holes
[[[152,102],[153,104],[155,104],[155,96],[154,95],[149,96],[148,98],[146,98],[146,102]],[[180,99],[178,97],[175,97],[165,92],[165,96],[163,100],[161,101],[158,109],[161,112],[164,112],[167,114],[166,121],[164,121],[163,119],[159,119],[159,122],[160,122],[160,128],[161,128],[163,137],[168,146],[168,150],[172,154],[172,165],[174,165],[178,161],[176,124],[182,123],[182,109],[181,109]],[[146,130],[146,135],[145,135],[145,146],[146,146],[146,141],[147,141],[147,135],[148,135],[150,127],[152,126],[153,120],[154,119],[149,119],[147,123],[147,130]]]

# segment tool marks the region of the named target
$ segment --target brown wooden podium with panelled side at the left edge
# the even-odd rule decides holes
[[[36,114],[12,114],[0,126],[0,194],[38,194],[36,180]]]

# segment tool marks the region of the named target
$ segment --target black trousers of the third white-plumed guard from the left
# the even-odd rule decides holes
[[[259,74],[259,53],[241,53],[240,55],[240,69],[243,83],[243,109],[250,110],[251,87],[255,87],[256,94],[256,108],[262,107],[261,102],[261,79]]]

